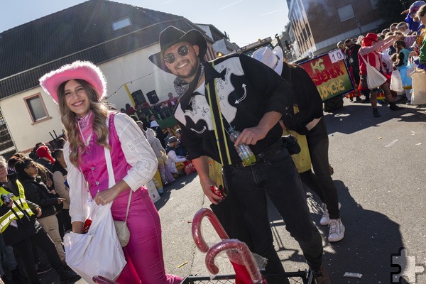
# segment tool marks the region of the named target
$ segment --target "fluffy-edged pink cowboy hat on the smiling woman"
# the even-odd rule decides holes
[[[60,84],[75,79],[88,82],[96,90],[99,99],[107,95],[107,80],[105,80],[104,74],[99,67],[89,61],[75,61],[63,65],[59,69],[43,75],[38,81],[44,91],[58,103],[58,87]]]

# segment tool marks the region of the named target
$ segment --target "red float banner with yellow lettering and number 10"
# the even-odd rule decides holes
[[[340,50],[332,50],[316,58],[300,63],[310,75],[322,102],[354,90],[349,71],[344,64],[344,55]]]

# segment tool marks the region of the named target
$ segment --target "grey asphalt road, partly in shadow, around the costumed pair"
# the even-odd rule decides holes
[[[382,116],[374,118],[369,104],[344,101],[343,109],[324,116],[346,226],[342,241],[327,241],[328,227],[320,225],[320,204],[307,192],[312,218],[323,236],[327,271],[335,284],[393,283],[391,273],[398,273],[393,263],[402,266],[406,277],[400,283],[426,283],[425,273],[415,276],[415,271],[426,271],[426,108],[391,111],[381,106]],[[155,205],[162,222],[166,271],[182,277],[209,275],[204,254],[191,236],[195,212],[209,207],[197,175],[174,182]],[[272,207],[270,217],[275,249],[285,270],[307,268],[300,248]],[[219,241],[209,222],[203,222],[202,232],[207,243]],[[403,248],[406,255],[392,256]],[[219,258],[218,266],[219,274],[232,273],[226,258]],[[361,273],[362,278],[345,278],[345,272]],[[57,282],[46,276],[43,283]]]

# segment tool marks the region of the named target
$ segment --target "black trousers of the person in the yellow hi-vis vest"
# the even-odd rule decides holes
[[[40,283],[38,280],[37,271],[35,271],[35,260],[33,254],[33,245],[36,244],[42,251],[45,252],[48,257],[50,265],[57,271],[62,268],[62,262],[55,249],[55,244],[52,239],[46,234],[43,229],[40,229],[37,233],[29,236],[23,241],[13,244],[12,247],[21,256],[23,261],[23,268],[25,269],[28,277],[28,283],[36,284]]]

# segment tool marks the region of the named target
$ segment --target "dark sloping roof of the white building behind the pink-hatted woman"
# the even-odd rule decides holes
[[[114,31],[112,23],[127,17],[131,25]],[[182,16],[89,0],[4,31],[0,33],[0,99],[37,87],[46,72],[75,60],[99,65],[158,43],[160,31],[171,25],[182,31],[200,30]]]

